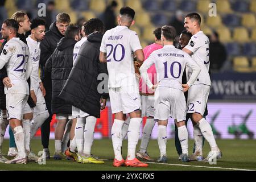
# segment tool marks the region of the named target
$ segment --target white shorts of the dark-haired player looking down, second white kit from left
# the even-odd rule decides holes
[[[44,96],[41,89],[38,87],[34,89],[34,92],[36,95],[36,106],[32,108],[34,117],[36,117],[38,114],[48,113],[46,100],[44,100]]]

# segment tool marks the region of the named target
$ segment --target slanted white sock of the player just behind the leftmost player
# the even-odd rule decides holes
[[[46,121],[46,119],[49,117],[49,113],[42,113],[35,115],[35,117],[32,119],[31,122],[31,129],[30,129],[30,139],[35,136],[36,131],[38,131],[39,127],[41,127]]]

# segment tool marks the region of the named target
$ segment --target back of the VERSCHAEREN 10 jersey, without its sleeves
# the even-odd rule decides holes
[[[151,53],[154,56],[159,86],[182,90],[182,75],[189,56],[172,45],[166,45]]]

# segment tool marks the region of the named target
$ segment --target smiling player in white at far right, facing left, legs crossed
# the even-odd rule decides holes
[[[192,113],[191,120],[193,122],[193,134],[196,144],[195,154],[203,156],[202,146],[203,138],[209,142],[210,152],[203,161],[208,162],[218,158],[221,158],[222,152],[219,150],[216,140],[212,132],[212,127],[203,118],[205,106],[207,104],[209,92],[210,92],[210,76],[209,76],[209,39],[201,31],[200,28],[201,17],[197,13],[189,13],[185,16],[184,27],[193,36],[189,40],[189,43],[183,51],[191,55],[192,59],[200,66],[201,72],[197,77],[195,84],[191,86],[188,91],[188,111]],[[191,70],[188,70],[188,78],[191,76]]]

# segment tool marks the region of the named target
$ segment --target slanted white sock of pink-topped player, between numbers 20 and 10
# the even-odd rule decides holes
[[[143,127],[143,131],[142,131],[141,146],[139,147],[139,152],[145,153],[147,151],[147,146],[148,146],[154,126],[155,126],[154,119],[147,118],[146,124]]]

